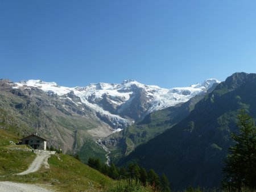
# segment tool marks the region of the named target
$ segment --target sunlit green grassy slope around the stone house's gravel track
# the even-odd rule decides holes
[[[100,191],[114,182],[69,155],[52,155],[48,160],[50,169],[41,168],[36,173],[14,176],[26,170],[36,155],[32,152],[11,151],[13,145],[8,145],[10,140],[15,141],[16,137],[0,130],[0,176],[5,176],[0,177],[0,181],[48,183],[61,191]]]

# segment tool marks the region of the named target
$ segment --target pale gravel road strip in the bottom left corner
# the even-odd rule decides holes
[[[43,187],[33,184],[14,183],[10,181],[0,182],[0,192],[51,192]]]

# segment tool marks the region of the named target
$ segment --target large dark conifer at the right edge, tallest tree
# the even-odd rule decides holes
[[[239,133],[231,134],[236,142],[225,160],[224,187],[240,190],[242,186],[256,189],[256,127],[254,120],[242,110],[238,117]]]

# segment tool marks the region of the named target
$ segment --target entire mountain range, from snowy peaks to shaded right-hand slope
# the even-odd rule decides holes
[[[217,187],[238,111],[256,118],[256,74],[189,87],[121,84],[63,87],[0,80],[0,128],[31,132],[64,152],[165,173],[171,188]]]

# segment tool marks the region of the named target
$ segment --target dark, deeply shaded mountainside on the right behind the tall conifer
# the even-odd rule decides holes
[[[256,118],[256,74],[235,73],[201,99],[195,109],[171,130],[140,145],[120,165],[135,161],[165,173],[172,189],[215,187],[222,178],[222,162],[237,131],[241,108]]]

